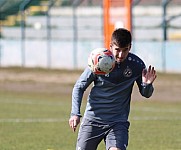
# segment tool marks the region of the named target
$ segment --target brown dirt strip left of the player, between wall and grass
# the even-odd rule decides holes
[[[3,68],[0,90],[29,93],[71,94],[81,71]]]

